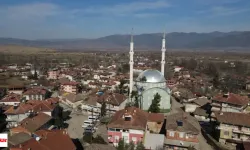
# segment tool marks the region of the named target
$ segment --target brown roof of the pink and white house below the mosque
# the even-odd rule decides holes
[[[131,115],[131,121],[125,121],[124,117]],[[156,117],[156,118],[153,118]],[[145,112],[136,107],[129,107],[120,111],[117,111],[109,122],[109,128],[122,128],[122,129],[139,129],[145,130],[147,122],[163,122],[163,114],[154,114]]]

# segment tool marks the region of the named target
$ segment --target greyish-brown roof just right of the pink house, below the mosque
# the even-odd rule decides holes
[[[182,126],[178,126],[178,121],[182,122]],[[176,113],[167,116],[166,129],[172,131],[180,131],[192,134],[199,134],[199,130],[188,121],[185,113]]]

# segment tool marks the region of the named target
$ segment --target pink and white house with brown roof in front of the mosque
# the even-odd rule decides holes
[[[108,140],[115,146],[122,138],[125,143],[133,141],[136,144],[142,141],[146,132],[155,130],[148,127],[148,122],[162,125],[164,115],[148,113],[136,107],[117,111],[108,124]]]

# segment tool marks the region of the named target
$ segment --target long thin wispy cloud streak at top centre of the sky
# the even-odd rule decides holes
[[[170,4],[166,0],[156,1],[141,1],[124,4],[117,4],[114,6],[103,7],[89,7],[84,9],[85,13],[90,14],[110,14],[110,15],[128,15],[141,11],[156,10],[169,7]]]

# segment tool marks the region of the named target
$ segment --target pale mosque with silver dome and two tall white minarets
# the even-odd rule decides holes
[[[171,91],[167,87],[166,79],[164,78],[165,69],[165,33],[162,39],[162,59],[161,59],[161,72],[155,69],[148,69],[139,74],[139,76],[133,79],[133,55],[134,55],[134,43],[133,36],[131,36],[130,42],[130,82],[129,82],[129,92],[130,97],[132,91],[137,91],[140,101],[141,109],[148,110],[152,103],[154,95],[158,93],[161,96],[160,109],[161,112],[168,112],[171,108]]]

